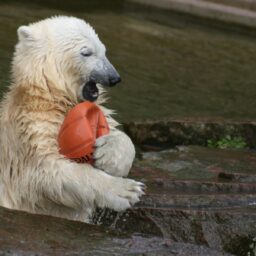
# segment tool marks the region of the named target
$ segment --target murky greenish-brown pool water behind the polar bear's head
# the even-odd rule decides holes
[[[121,122],[160,118],[256,118],[255,31],[129,1],[0,2],[0,88],[20,25],[52,15],[88,21],[122,77],[107,106]]]

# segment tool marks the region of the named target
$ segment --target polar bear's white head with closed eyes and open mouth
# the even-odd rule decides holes
[[[106,49],[85,21],[58,16],[18,28],[13,59],[16,84],[58,90],[73,100],[95,101],[98,86],[113,86],[120,76]]]

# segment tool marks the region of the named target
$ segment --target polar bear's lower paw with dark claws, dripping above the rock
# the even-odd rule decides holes
[[[108,177],[108,181],[101,186],[98,206],[124,211],[139,202],[144,195],[144,184],[131,179]],[[104,189],[103,189],[104,188]]]

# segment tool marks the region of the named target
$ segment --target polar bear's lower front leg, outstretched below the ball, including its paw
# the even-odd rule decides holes
[[[95,207],[124,211],[144,194],[141,182],[113,177],[89,164],[77,164],[67,159],[48,157],[42,161],[41,168],[30,172],[28,177],[26,183],[22,183],[26,188],[22,191],[23,198],[40,209],[44,206],[41,202],[48,200],[57,206],[66,206],[74,212],[82,210],[87,214]],[[54,208],[45,209],[50,215],[54,215],[53,212]],[[62,213],[55,216],[62,217]],[[84,221],[90,217],[86,216]]]

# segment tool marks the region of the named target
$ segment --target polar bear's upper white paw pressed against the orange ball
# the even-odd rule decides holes
[[[131,169],[135,148],[125,133],[114,130],[96,140],[93,157],[98,169],[113,176],[125,177]]]

